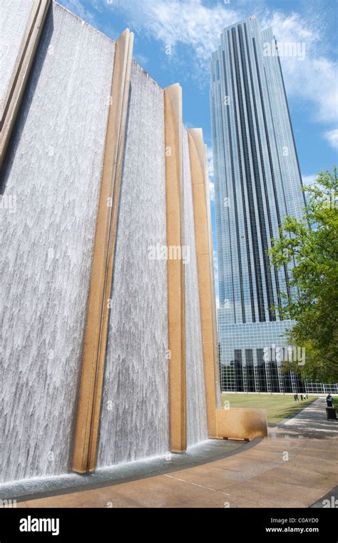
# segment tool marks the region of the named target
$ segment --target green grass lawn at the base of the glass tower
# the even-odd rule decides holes
[[[309,396],[309,400],[295,402],[293,396],[270,395],[270,394],[227,394],[221,395],[221,404],[227,400],[231,407],[246,407],[247,409],[266,409],[267,422],[277,424],[286,417],[294,415],[303,407],[307,407],[317,396]],[[337,400],[336,400],[337,401]]]

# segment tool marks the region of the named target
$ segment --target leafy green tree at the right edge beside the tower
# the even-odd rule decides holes
[[[284,293],[282,318],[297,322],[287,334],[290,345],[305,347],[306,362],[288,362],[285,369],[312,380],[338,380],[338,183],[337,167],[318,174],[304,187],[307,207],[302,220],[287,217],[280,238],[273,240],[271,263],[288,266],[290,300]]]

